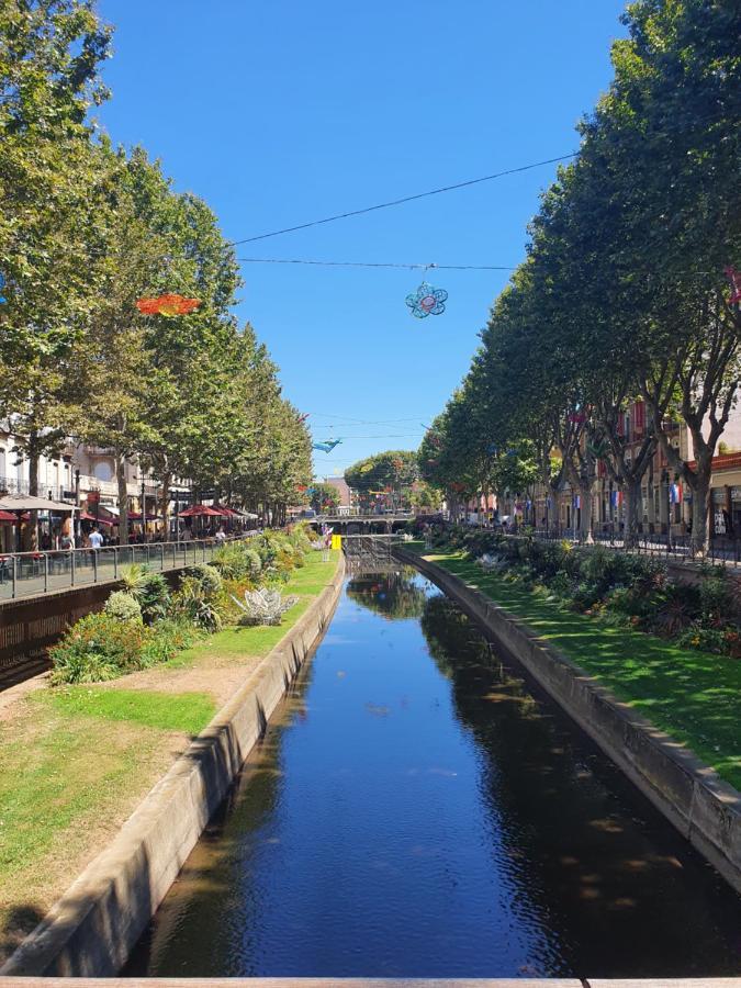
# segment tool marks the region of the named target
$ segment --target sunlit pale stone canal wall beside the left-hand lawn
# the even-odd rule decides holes
[[[175,762],[0,976],[110,977],[125,964],[339,599],[332,583]]]

